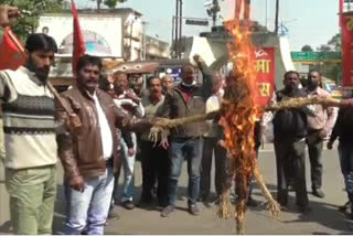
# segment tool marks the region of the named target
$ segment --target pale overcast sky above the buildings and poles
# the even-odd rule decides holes
[[[185,17],[207,18],[204,3],[210,0],[183,0]],[[76,0],[79,8],[96,7],[93,0]],[[222,17],[232,17],[234,0],[220,0]],[[267,2],[267,11],[266,11]],[[266,23],[274,29],[275,0],[253,0],[252,18]],[[171,41],[172,15],[175,11],[175,0],[128,0],[119,7],[129,7],[141,12],[143,20],[148,22],[148,34],[158,35],[168,42]],[[281,0],[280,20],[289,30],[289,41],[292,51],[300,51],[304,44],[317,49],[327,43],[339,32],[338,22],[339,0]],[[207,31],[205,26],[184,25],[184,35],[197,35]]]

